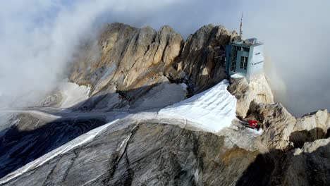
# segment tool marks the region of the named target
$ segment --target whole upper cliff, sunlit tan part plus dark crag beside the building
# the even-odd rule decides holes
[[[167,79],[185,82],[195,94],[226,77],[224,59],[216,57],[230,39],[222,26],[206,25],[184,42],[169,26],[157,32],[113,23],[81,49],[70,80],[92,88],[92,99],[81,107],[87,110],[110,99],[109,109],[128,106]]]

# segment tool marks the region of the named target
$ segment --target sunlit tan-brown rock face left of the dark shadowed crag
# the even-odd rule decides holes
[[[159,85],[182,48],[181,35],[171,27],[161,27],[157,32],[151,27],[138,29],[113,23],[102,28],[97,42],[88,43],[80,51],[70,80],[92,87],[94,99],[85,109],[94,109],[94,105],[109,99],[113,104],[109,109],[122,107]],[[127,96],[133,91],[135,94]],[[118,92],[124,100],[114,100]]]

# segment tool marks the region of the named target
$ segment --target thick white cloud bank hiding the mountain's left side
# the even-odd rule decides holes
[[[152,4],[157,8],[171,1]],[[0,94],[6,101],[33,101],[63,78],[71,55],[97,19],[112,11],[130,11],[138,1],[8,1],[1,6]],[[133,8],[130,6],[130,8]],[[111,18],[110,18],[111,19]],[[4,99],[0,106],[6,106]],[[22,103],[23,104],[23,103]]]

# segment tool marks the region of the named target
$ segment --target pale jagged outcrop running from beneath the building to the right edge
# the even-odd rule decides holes
[[[271,89],[264,75],[247,81],[244,77],[232,78],[228,91],[238,99],[237,116],[243,120],[257,120],[264,130],[260,139],[269,149],[288,150],[302,147],[327,137],[329,113],[320,110],[302,118],[295,118],[281,104],[274,104]]]

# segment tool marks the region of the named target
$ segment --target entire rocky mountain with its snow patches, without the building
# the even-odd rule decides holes
[[[68,82],[1,112],[0,185],[329,185],[330,113],[295,118],[264,74],[223,81],[235,39],[224,26],[183,39],[169,26],[104,25]],[[221,103],[230,123],[210,114]],[[169,110],[200,118],[160,114]],[[224,127],[208,130],[211,116]]]

